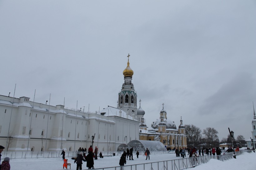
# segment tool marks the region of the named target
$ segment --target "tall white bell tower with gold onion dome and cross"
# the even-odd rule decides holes
[[[135,92],[132,83],[133,70],[130,68],[129,63],[130,54],[128,54],[127,57],[127,67],[123,71],[124,83],[122,85],[121,92],[119,92],[118,94],[117,108],[121,108],[128,115],[133,116],[133,118],[135,118],[137,115],[137,93]]]

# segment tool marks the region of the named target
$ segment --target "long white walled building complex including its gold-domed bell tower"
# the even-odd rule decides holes
[[[115,152],[119,145],[139,140],[137,95],[127,67],[118,96],[119,108],[108,106],[99,114],[31,102],[29,97],[0,95],[0,145],[5,151],[77,151],[92,144],[98,151]],[[125,109],[123,111],[123,109]]]

